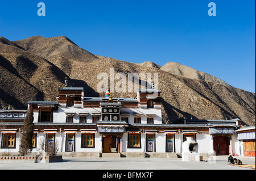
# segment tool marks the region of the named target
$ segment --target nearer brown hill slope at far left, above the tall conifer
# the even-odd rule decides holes
[[[52,100],[52,91],[67,76],[44,58],[9,44],[0,44],[0,69],[1,107],[19,109],[26,109],[28,100]]]

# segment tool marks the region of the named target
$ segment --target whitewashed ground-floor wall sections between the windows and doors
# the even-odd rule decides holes
[[[58,144],[59,153],[72,153],[65,151],[67,133],[57,132],[55,133],[55,140]],[[99,153],[101,150],[101,137],[100,133],[94,133],[94,148],[81,148],[82,133],[75,133],[75,152],[77,153]],[[16,133],[15,148],[1,148],[0,153],[18,153],[20,145],[21,134]],[[36,148],[32,150],[33,153],[38,154],[41,150],[42,143],[46,141],[46,133],[37,133]],[[213,140],[210,134],[196,134],[196,142],[199,144],[200,154],[208,154],[213,150]],[[183,134],[177,133],[174,135],[174,153],[181,153],[183,143]],[[156,133],[155,134],[155,148],[153,153],[166,153],[166,134]],[[122,136],[122,150],[121,152],[127,153],[144,153],[146,152],[146,133],[141,133],[141,146],[140,148],[127,148],[128,146],[128,133],[123,133]],[[238,141],[236,136],[232,136],[232,149],[233,153],[242,155],[242,142]]]

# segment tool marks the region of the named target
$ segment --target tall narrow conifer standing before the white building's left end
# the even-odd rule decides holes
[[[24,120],[24,126],[22,129],[22,139],[19,146],[19,154],[26,156],[27,153],[32,151],[32,138],[34,134],[34,116],[33,110],[30,107],[27,111],[27,115]]]

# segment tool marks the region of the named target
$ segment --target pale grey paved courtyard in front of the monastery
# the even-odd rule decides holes
[[[239,158],[239,157],[236,157]],[[213,161],[184,162],[181,158],[67,158],[55,163],[1,163],[0,170],[251,170],[227,164],[228,155]],[[255,157],[240,157],[255,164]]]

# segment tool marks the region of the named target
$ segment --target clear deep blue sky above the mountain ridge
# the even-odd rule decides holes
[[[38,16],[38,3],[46,16]],[[209,16],[208,3],[216,4]],[[168,61],[255,92],[255,0],[1,1],[0,36],[64,35],[93,54]]]

